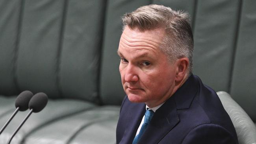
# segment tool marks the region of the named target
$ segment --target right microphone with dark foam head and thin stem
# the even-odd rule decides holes
[[[43,92],[39,92],[37,94],[35,94],[30,102],[28,103],[28,107],[30,109],[30,111],[28,112],[28,114],[26,115],[26,117],[24,118],[24,120],[22,120],[22,122],[20,123],[20,125],[17,127],[17,129],[13,132],[13,134],[11,135],[11,137],[9,138],[7,144],[11,143],[11,140],[13,139],[13,137],[16,135],[16,133],[19,131],[20,127],[23,126],[23,124],[26,122],[26,120],[28,119],[28,117],[34,112],[34,113],[38,113],[40,111],[42,111],[46,104],[48,102],[48,97],[45,93]]]

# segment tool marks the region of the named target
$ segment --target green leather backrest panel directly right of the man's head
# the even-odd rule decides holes
[[[229,92],[239,16],[237,0],[200,0],[194,26],[194,70],[215,91]]]

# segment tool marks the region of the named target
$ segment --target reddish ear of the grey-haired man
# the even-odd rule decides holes
[[[187,76],[187,70],[189,66],[189,59],[187,57],[182,57],[176,61],[176,76],[175,81],[180,83]]]

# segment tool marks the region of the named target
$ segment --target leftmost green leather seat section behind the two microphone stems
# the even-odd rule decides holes
[[[15,98],[16,97],[0,97],[0,112],[3,113],[2,111],[6,109],[6,114],[2,114],[0,116],[1,127],[15,110]],[[2,103],[6,104],[2,105]],[[52,122],[58,122],[59,119],[72,116],[76,113],[80,113],[93,107],[95,107],[95,105],[92,103],[78,100],[49,100],[45,109],[43,109],[40,113],[32,113],[32,115],[28,118],[17,135],[13,138],[12,143],[15,144],[20,142],[23,138],[26,137],[26,135],[30,135],[30,133],[33,133],[33,131],[39,129],[40,127],[47,126]],[[0,144],[7,142],[8,138],[11,136],[13,131],[15,131],[27,113],[28,110],[24,112],[18,112],[16,114],[11,123],[6,127],[5,131],[0,135]],[[65,125],[60,125],[59,128],[63,126]],[[52,127],[52,129],[58,128]]]

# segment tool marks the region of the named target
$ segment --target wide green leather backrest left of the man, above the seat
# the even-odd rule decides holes
[[[7,37],[1,33],[0,41],[5,44],[0,53],[1,69],[5,69],[1,70],[1,81],[4,79],[1,89],[15,91],[17,85],[17,91],[45,92],[50,98],[98,101],[105,3],[100,0],[4,2],[0,6],[5,13],[0,15],[6,19],[1,17],[5,25],[0,29]]]

